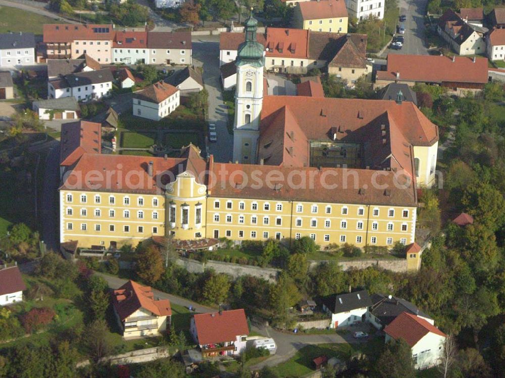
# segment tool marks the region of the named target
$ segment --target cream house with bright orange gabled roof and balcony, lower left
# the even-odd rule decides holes
[[[112,304],[125,339],[160,336],[165,334],[170,326],[170,301],[155,299],[149,286],[129,280],[113,291]]]

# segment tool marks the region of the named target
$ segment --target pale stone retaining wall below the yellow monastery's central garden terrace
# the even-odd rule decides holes
[[[281,272],[281,269],[263,268],[260,266],[252,265],[239,265],[233,264],[231,262],[213,260],[208,260],[207,262],[202,263],[200,261],[187,258],[178,258],[176,262],[179,266],[183,266],[187,269],[188,272],[191,273],[204,273],[206,268],[212,268],[214,271],[216,271],[216,273],[226,273],[233,278],[249,275],[263,278],[270,282],[276,282],[277,276],[279,272]]]

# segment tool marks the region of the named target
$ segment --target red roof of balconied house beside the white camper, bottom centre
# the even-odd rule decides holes
[[[242,308],[221,313],[195,314],[193,317],[199,345],[235,341],[237,336],[249,335],[247,319]]]

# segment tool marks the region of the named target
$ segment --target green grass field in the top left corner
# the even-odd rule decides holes
[[[54,24],[55,22],[55,19],[21,9],[0,7],[0,33],[24,31],[42,34],[43,24]]]

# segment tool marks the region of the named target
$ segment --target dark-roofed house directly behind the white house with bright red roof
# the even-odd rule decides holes
[[[429,322],[431,325],[435,321],[427,314],[419,310],[415,304],[392,295],[386,296],[383,294],[372,294],[372,305],[368,308],[367,322],[378,330],[384,329],[398,315],[407,312],[412,315],[419,316]]]

